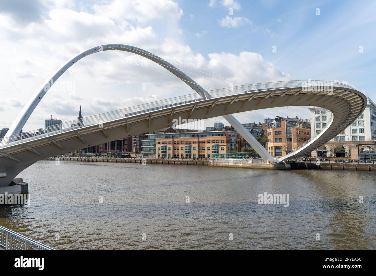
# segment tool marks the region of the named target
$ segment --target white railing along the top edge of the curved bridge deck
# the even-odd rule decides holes
[[[99,115],[89,116],[82,119],[77,119],[70,122],[64,122],[61,124],[52,125],[45,128],[39,128],[38,130],[32,130],[25,133],[15,134],[10,137],[4,138],[0,142],[0,149],[6,148],[8,146],[16,145],[19,143],[27,142],[30,140],[35,140],[47,136],[52,136],[59,133],[64,133],[67,131],[75,130],[81,127],[86,127],[90,125],[97,125],[117,119],[127,118],[133,115],[139,115],[146,112],[151,112],[155,110],[161,110],[168,107],[179,106],[182,104],[193,103],[198,101],[204,101],[212,98],[226,97],[230,95],[239,95],[249,92],[262,92],[274,89],[290,89],[296,87],[304,87],[306,85],[310,86],[312,84],[316,87],[327,86],[326,81],[318,80],[293,80],[293,81],[274,81],[269,83],[256,83],[256,84],[245,84],[241,86],[229,86],[222,89],[215,89],[205,91],[205,97],[200,96],[197,93],[174,97],[166,100],[156,101],[147,104],[141,104],[139,106],[127,107],[120,110],[115,110],[111,112],[102,113]],[[334,86],[344,87],[353,89],[353,87],[348,86],[343,83],[331,82]]]

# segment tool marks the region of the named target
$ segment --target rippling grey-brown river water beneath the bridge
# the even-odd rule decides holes
[[[18,177],[30,206],[0,225],[55,249],[376,249],[375,172],[39,161]]]

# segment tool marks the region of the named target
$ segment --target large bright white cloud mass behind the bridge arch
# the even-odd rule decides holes
[[[47,2],[43,2],[43,9]],[[3,99],[0,101],[0,122],[3,125],[11,125],[23,106],[21,102],[26,102],[56,68],[79,52],[100,44],[133,45],[168,61],[176,61],[247,83],[285,80],[290,77],[270,62],[264,61],[257,53],[211,53],[204,57],[191,49],[187,51],[186,46],[194,48],[194,45],[186,45],[180,26],[183,12],[177,3],[172,1],[135,0],[122,6],[123,2],[116,0],[94,6],[93,10],[88,9],[90,12],[70,8],[75,6],[73,1],[59,3],[56,4],[60,5],[59,8],[52,6],[42,19],[38,17],[31,22],[20,21],[18,15],[0,11],[0,39],[12,49],[9,52],[0,52],[3,62],[0,74],[2,79],[7,80],[3,83],[0,97]],[[246,18],[233,20],[235,23],[229,23],[230,27],[252,25]],[[20,22],[22,24],[19,24]],[[203,30],[195,35],[202,38],[208,34]],[[215,78],[218,83],[212,81],[214,78],[210,75],[184,67],[182,69],[206,89],[228,85],[227,80]],[[62,81],[74,81],[75,90],[49,91],[33,112],[24,130],[38,129],[44,124],[44,119],[54,113],[57,115],[53,116],[63,122],[76,119],[80,105],[83,116],[86,117],[149,103],[156,101],[156,98],[165,99],[193,93],[185,83],[171,76],[173,75],[161,66],[131,53],[105,51],[93,54],[77,62],[55,83],[58,86]],[[143,84],[146,84],[146,90],[143,90]],[[6,95],[12,95],[12,99],[4,100]],[[212,121],[208,121],[209,123]]]

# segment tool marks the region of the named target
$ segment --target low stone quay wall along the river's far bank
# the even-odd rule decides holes
[[[266,164],[256,160],[246,159],[181,159],[181,158],[98,158],[98,157],[50,157],[48,161],[78,161],[78,162],[105,162],[105,163],[138,163],[138,164],[168,164],[193,165],[208,167],[229,167],[244,169],[277,169],[277,170],[359,170],[376,171],[376,164],[372,163],[324,163],[296,162]],[[253,161],[253,162],[252,162]]]

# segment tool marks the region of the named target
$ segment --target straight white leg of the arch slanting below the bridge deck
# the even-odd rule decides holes
[[[241,136],[249,143],[250,146],[261,156],[266,163],[279,163],[277,158],[274,158],[270,153],[253,137],[252,134],[240,122],[235,119],[233,115],[224,115],[224,119],[229,122]]]

